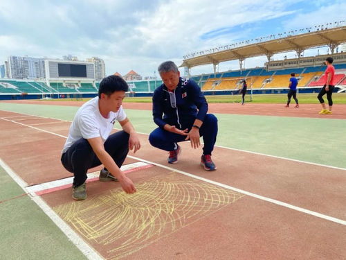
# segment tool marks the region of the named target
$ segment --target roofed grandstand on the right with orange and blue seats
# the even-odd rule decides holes
[[[346,42],[345,21],[268,35],[232,45],[219,46],[205,51],[197,51],[184,56],[180,67],[190,71],[192,67],[212,64],[214,73],[192,76],[206,94],[227,94],[237,91],[242,80],[246,80],[254,94],[285,93],[291,73],[298,78],[299,92],[318,92],[325,82],[325,58],[334,58],[336,69],[336,90],[345,92],[346,53],[335,53],[336,48]],[[340,26],[341,25],[341,26]],[[284,37],[282,37],[284,36]],[[302,57],[304,50],[328,46],[330,55]],[[273,60],[277,53],[295,51],[298,58]],[[244,69],[246,58],[265,55],[268,62],[264,67]],[[239,70],[217,71],[220,62],[239,60]],[[226,92],[225,92],[226,91]]]

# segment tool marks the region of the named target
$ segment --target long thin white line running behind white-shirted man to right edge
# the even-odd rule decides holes
[[[14,122],[14,123],[16,123],[16,122]],[[21,125],[24,125],[24,124],[21,124]],[[26,126],[30,127],[30,125],[26,125]],[[41,129],[39,129],[39,128],[35,128],[35,129],[41,130]],[[46,131],[46,130],[42,130],[42,131],[51,133],[52,135],[57,135],[57,134],[55,134],[54,132],[49,132],[49,131]],[[62,135],[60,135],[60,136],[61,136],[61,137],[64,137],[64,136],[62,136]],[[64,137],[64,138],[67,138],[67,137]],[[338,223],[338,224],[341,224],[341,225],[346,225],[346,220],[342,220],[342,219],[339,219],[339,218],[334,218],[334,217],[332,217],[332,216],[327,216],[327,215],[325,215],[325,214],[320,214],[320,213],[318,213],[318,212],[316,212],[316,211],[311,211],[311,210],[309,210],[309,209],[304,209],[304,208],[302,208],[302,207],[297,207],[297,206],[291,205],[291,204],[289,204],[289,203],[282,202],[282,201],[280,201],[280,200],[274,200],[274,199],[271,199],[271,198],[267,198],[267,197],[264,197],[264,196],[260,196],[260,195],[258,195],[258,194],[251,193],[251,192],[249,192],[249,191],[244,191],[244,190],[242,190],[242,189],[238,189],[238,188],[235,188],[235,187],[231,187],[231,186],[229,186],[229,185],[227,185],[227,184],[222,184],[222,183],[220,183],[220,182],[215,182],[215,181],[212,181],[212,180],[208,180],[208,179],[206,179],[206,178],[199,177],[199,176],[193,175],[193,174],[191,174],[191,173],[186,173],[185,171],[180,171],[180,170],[177,170],[177,169],[175,169],[175,168],[171,168],[171,167],[165,166],[165,165],[163,165],[163,164],[157,164],[156,162],[151,162],[151,161],[148,161],[148,160],[146,160],[146,159],[141,159],[141,158],[134,157],[134,156],[131,156],[131,155],[127,155],[127,156],[128,156],[129,158],[132,158],[132,159],[137,159],[138,161],[141,161],[141,162],[146,162],[147,164],[153,164],[153,165],[156,165],[156,166],[160,166],[160,167],[162,167],[162,168],[166,168],[166,169],[168,169],[168,170],[170,170],[170,171],[176,171],[177,173],[181,173],[181,174],[183,174],[183,175],[187,175],[187,176],[193,177],[193,178],[195,178],[195,179],[197,179],[197,180],[202,180],[203,182],[208,182],[208,183],[211,183],[211,184],[215,184],[215,185],[217,185],[217,186],[219,186],[219,187],[223,187],[223,188],[225,188],[225,189],[230,189],[230,190],[233,190],[233,191],[237,191],[237,192],[239,192],[239,193],[243,193],[243,194],[245,194],[245,195],[247,195],[247,196],[251,196],[251,197],[257,198],[257,199],[259,199],[259,200],[264,200],[264,201],[266,201],[266,202],[271,202],[271,203],[273,203],[273,204],[275,204],[275,205],[280,205],[280,206],[282,206],[282,207],[286,207],[286,208],[289,208],[289,209],[293,209],[293,210],[296,210],[296,211],[300,211],[300,212],[302,212],[302,213],[309,214],[309,215],[311,215],[311,216],[316,216],[316,217],[318,217],[318,218],[323,218],[323,219],[325,219],[325,220],[329,220],[329,221],[334,222],[334,223]]]

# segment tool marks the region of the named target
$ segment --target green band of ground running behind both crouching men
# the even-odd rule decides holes
[[[78,107],[0,103],[0,110],[51,116],[71,121]],[[126,110],[126,109],[125,109]],[[138,132],[156,125],[150,110],[126,110]],[[217,145],[346,168],[343,119],[217,114]],[[116,128],[120,128],[116,124]]]

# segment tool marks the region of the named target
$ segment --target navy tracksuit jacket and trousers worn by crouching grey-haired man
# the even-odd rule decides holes
[[[154,91],[153,116],[158,125],[149,135],[152,146],[161,150],[172,151],[178,148],[178,142],[185,141],[185,135],[163,130],[167,123],[176,128],[190,130],[195,119],[203,121],[199,135],[203,137],[203,155],[211,155],[217,139],[217,118],[207,114],[208,103],[201,92],[201,88],[187,78],[179,78],[179,84],[174,92],[169,92],[165,85]]]

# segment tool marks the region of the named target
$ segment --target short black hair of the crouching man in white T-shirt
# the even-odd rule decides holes
[[[123,78],[111,75],[101,80],[100,87],[98,88],[98,97],[100,98],[102,93],[109,96],[114,92],[127,92],[128,90],[129,85]]]

